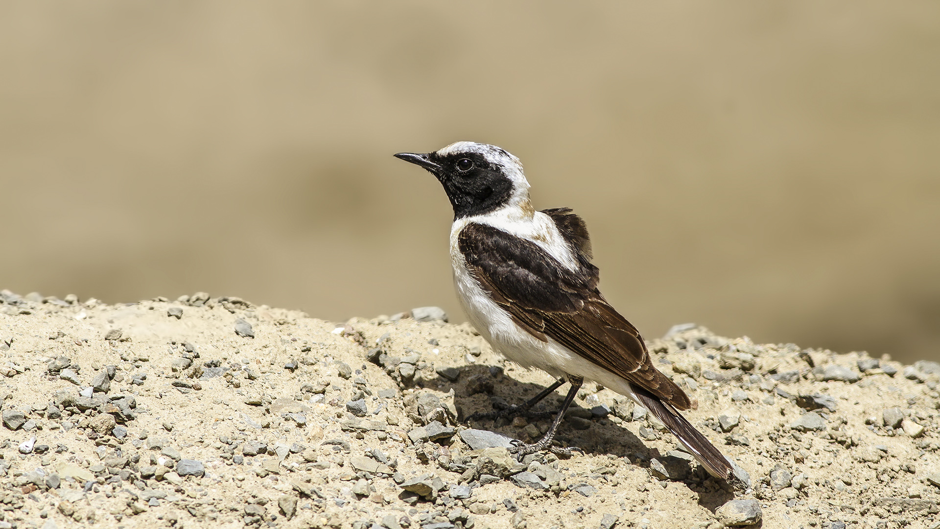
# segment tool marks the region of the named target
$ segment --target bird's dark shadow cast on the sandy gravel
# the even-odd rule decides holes
[[[491,384],[492,390],[489,389]],[[500,398],[509,406],[523,404],[544,390],[546,386],[523,382],[501,371],[494,375],[490,366],[479,364],[462,367],[461,375],[457,380],[452,381],[444,377],[437,377],[423,381],[419,386],[445,393],[453,390],[454,405],[458,409],[458,419],[464,425],[493,431],[525,442],[535,442],[541,438],[540,433],[538,437],[530,439],[523,429],[525,425],[517,427],[511,425],[507,420],[493,421],[488,419],[473,421],[473,424],[470,424],[466,422],[466,417],[474,413],[493,411],[493,400]],[[544,432],[551,425],[556,411],[561,408],[564,394],[567,393],[569,388],[570,386],[567,384],[562,385],[561,388],[550,393],[532,408],[533,411],[551,412],[550,417],[534,421],[540,432]],[[481,389],[484,391],[480,391]],[[589,409],[584,409],[576,403],[572,403],[570,409],[574,409],[572,414],[577,416],[587,416],[589,414]],[[643,469],[650,468],[650,459],[661,456],[658,448],[650,448],[629,429],[615,424],[609,418],[594,418],[587,429],[575,429],[569,421],[562,421],[561,425],[558,426],[556,440],[564,446],[576,446],[585,454],[625,457],[635,467]],[[717,507],[734,499],[734,492],[729,485],[709,476],[700,465],[696,465],[689,478],[682,480],[682,482],[698,494],[698,504],[712,512]]]

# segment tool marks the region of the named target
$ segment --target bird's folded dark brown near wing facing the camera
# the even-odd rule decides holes
[[[535,243],[476,223],[463,228],[458,246],[483,290],[533,336],[551,337],[678,409],[692,407],[653,367],[636,328],[603,299],[598,269],[583,251],[578,269],[568,270]]]

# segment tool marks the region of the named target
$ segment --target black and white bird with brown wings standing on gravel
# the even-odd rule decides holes
[[[524,405],[490,415],[525,411],[572,385],[545,436],[514,452],[564,452],[552,441],[587,379],[648,409],[709,473],[730,477],[728,459],[679,412],[697,403],[656,370],[639,332],[598,290],[581,217],[568,208],[536,211],[519,158],[493,145],[460,141],[395,156],[430,171],[453,205],[450,260],[470,323],[509,360],[556,377]]]

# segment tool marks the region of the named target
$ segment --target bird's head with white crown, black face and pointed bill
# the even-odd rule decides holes
[[[499,147],[458,141],[435,152],[399,152],[395,156],[428,169],[444,185],[455,219],[503,207],[521,208],[531,215],[523,165]]]

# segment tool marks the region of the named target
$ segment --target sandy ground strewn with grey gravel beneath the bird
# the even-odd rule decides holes
[[[336,324],[204,293],[4,291],[0,529],[938,526],[937,363],[694,325],[649,345],[748,488],[591,384],[558,437],[583,456],[509,457],[505,436],[538,439],[549,419],[463,416],[551,378],[432,307]]]

